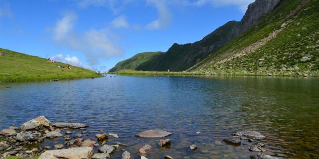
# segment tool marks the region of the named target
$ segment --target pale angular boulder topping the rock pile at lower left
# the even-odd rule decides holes
[[[21,125],[21,130],[33,130],[33,129],[42,129],[44,127],[49,127],[51,122],[46,119],[44,116],[39,116],[35,119],[31,119],[26,123]]]

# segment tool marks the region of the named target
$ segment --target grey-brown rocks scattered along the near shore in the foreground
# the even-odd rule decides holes
[[[148,152],[153,150],[151,145],[146,144],[138,152],[130,153],[125,150],[127,145],[120,142],[115,145],[108,145],[107,139],[109,137],[118,139],[119,136],[117,134],[97,133],[95,137],[89,138],[88,132],[85,131],[87,127],[88,125],[81,123],[51,123],[44,116],[27,121],[20,127],[11,124],[8,129],[0,131],[0,159],[6,159],[7,157],[17,157],[18,159],[110,159],[115,151],[123,152],[122,159],[134,159],[134,156],[138,156],[139,159],[152,158],[152,156],[148,155]],[[82,132],[75,134],[72,132],[73,130]],[[62,131],[64,131],[64,134],[61,133]],[[159,140],[158,147],[165,150],[170,148],[171,140],[161,138],[171,134],[164,130],[148,130],[136,134],[136,137],[157,139]],[[196,134],[200,135],[201,132],[196,132]],[[269,152],[264,148],[265,144],[258,142],[258,139],[265,138],[261,133],[242,131],[231,135],[229,138],[223,139],[226,144],[234,147],[243,145],[241,147],[243,151],[248,149],[251,152],[259,152],[257,154],[258,159],[278,159],[275,157],[277,154]],[[62,137],[64,143],[55,144],[53,147],[41,145],[47,139]],[[198,150],[195,144],[189,145],[188,149],[193,152],[205,153]],[[173,159],[171,156],[163,156],[162,158]],[[250,158],[256,159],[255,155]],[[189,159],[189,157],[184,157],[183,159]]]

